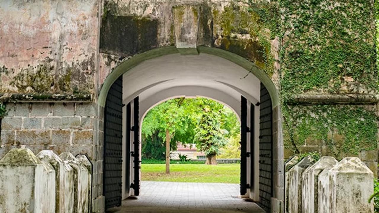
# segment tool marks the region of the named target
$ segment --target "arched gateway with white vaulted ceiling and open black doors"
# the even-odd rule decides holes
[[[177,96],[206,96],[232,106],[241,119],[241,195],[267,211],[282,200],[283,186],[274,182],[283,182],[274,84],[241,56],[210,47],[197,51],[199,55],[180,54],[176,47],[149,50],[119,64],[106,78],[98,102],[104,110],[106,208],[139,194],[140,118],[157,102]]]

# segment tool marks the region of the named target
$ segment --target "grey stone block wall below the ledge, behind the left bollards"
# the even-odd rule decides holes
[[[7,103],[2,119],[0,158],[11,148],[25,145],[34,153],[94,154],[94,103]]]

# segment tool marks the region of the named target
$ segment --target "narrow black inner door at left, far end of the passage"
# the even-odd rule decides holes
[[[131,188],[134,189],[134,195],[139,196],[139,170],[141,169],[141,161],[139,161],[139,97],[136,97],[133,100],[133,119],[134,125],[132,131],[134,132],[133,144],[134,151],[132,153],[133,157],[133,169],[134,169],[134,181],[131,185]]]

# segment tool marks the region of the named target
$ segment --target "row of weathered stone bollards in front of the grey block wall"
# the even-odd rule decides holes
[[[0,212],[89,213],[91,185],[86,155],[11,149],[0,160]]]

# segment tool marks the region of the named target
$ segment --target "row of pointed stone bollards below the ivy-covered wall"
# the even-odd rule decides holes
[[[286,172],[286,212],[373,213],[373,182],[373,172],[357,157],[305,157]]]

